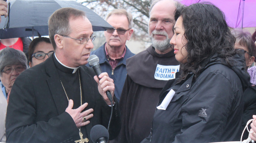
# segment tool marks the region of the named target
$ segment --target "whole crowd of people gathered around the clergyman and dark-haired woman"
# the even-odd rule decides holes
[[[0,15],[7,12],[0,1]],[[134,54],[126,46],[132,19],[111,11],[113,28],[94,51],[92,25],[74,8],[49,17],[49,38],[1,39],[0,142],[92,143],[95,125],[110,143],[239,141],[256,120],[256,32],[231,30],[211,3],[153,0],[152,45]],[[256,141],[255,132],[253,121],[243,139]]]

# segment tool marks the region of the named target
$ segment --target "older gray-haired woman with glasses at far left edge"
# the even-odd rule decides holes
[[[10,91],[20,73],[27,69],[27,57],[20,51],[6,47],[0,50],[0,142],[5,141],[5,116]]]

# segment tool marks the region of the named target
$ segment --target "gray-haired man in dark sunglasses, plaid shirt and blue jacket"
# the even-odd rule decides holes
[[[104,32],[106,43],[91,54],[99,57],[101,70],[114,80],[115,96],[119,101],[127,75],[126,59],[134,55],[125,45],[133,33],[132,15],[124,9],[115,9],[106,16],[106,21],[114,28]]]

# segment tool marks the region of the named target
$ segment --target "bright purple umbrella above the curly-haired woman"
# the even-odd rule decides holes
[[[179,0],[184,5],[211,2],[223,11],[229,27],[256,27],[256,0]],[[243,6],[244,5],[244,6]]]

